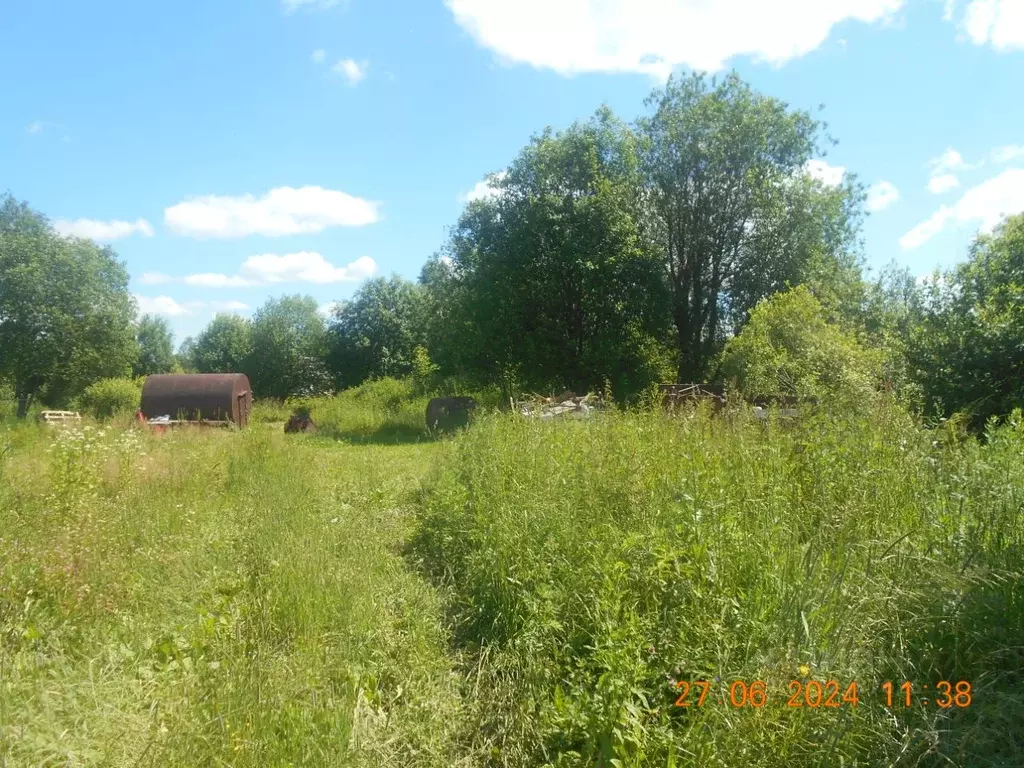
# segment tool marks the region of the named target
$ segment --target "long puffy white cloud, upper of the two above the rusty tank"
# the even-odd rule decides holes
[[[332,226],[362,226],[380,219],[374,203],[321,186],[279,186],[252,195],[191,198],[164,211],[175,232],[194,238],[244,238],[315,233]]]

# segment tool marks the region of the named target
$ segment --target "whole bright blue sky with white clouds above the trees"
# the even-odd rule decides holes
[[[1024,210],[1024,0],[33,0],[0,66],[0,190],[110,243],[178,342],[415,279],[532,133],[679,69],[825,105],[814,171],[873,187],[871,267]]]

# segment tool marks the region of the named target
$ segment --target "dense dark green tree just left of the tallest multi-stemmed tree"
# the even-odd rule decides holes
[[[660,378],[668,302],[638,223],[632,131],[602,109],[535,137],[492,184],[498,195],[470,204],[454,232],[451,275],[438,263],[429,275],[456,284],[464,362],[507,394],[605,379],[630,394]]]

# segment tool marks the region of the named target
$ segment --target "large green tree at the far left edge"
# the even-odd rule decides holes
[[[36,397],[65,402],[92,381],[129,374],[134,315],[114,251],[61,238],[27,204],[0,199],[0,377],[19,416]]]

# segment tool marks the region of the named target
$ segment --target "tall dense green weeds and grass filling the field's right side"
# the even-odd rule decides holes
[[[487,420],[425,496],[493,765],[1024,764],[1024,427],[899,411]],[[792,680],[856,708],[788,708]],[[678,680],[711,680],[674,706]],[[768,702],[735,709],[735,680]],[[880,684],[973,684],[888,709]],[[897,692],[897,697],[899,696]]]

